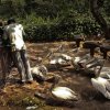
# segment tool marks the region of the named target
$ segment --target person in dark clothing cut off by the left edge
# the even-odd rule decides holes
[[[0,67],[2,73],[2,82],[6,82],[6,73],[9,73],[11,57],[8,57],[10,54],[10,47],[7,46],[9,41],[3,38],[3,28],[4,22],[0,20]]]

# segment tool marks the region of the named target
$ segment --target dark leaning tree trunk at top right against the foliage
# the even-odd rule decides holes
[[[101,2],[100,0],[89,0],[89,1],[90,1],[90,10],[91,10],[94,18],[101,26],[105,37],[107,40],[110,40],[110,28],[108,26],[106,20],[103,19],[103,16],[101,15],[100,10],[99,10],[102,7],[103,2]],[[101,3],[101,4],[99,4],[99,3]]]

